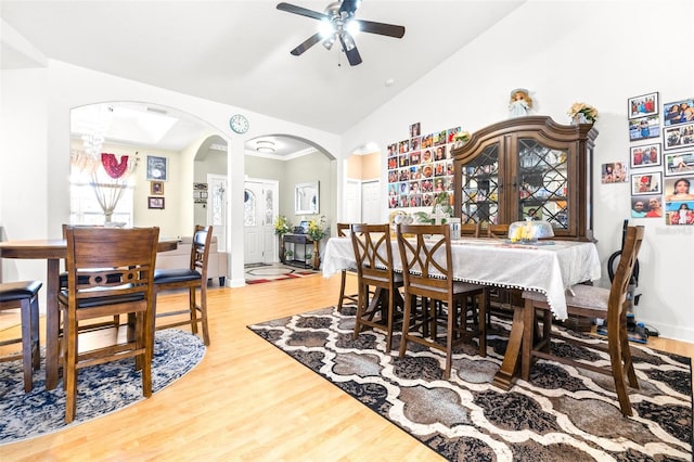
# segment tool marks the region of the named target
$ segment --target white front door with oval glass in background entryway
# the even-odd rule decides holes
[[[244,264],[279,260],[273,222],[278,216],[279,183],[248,179],[244,183]]]

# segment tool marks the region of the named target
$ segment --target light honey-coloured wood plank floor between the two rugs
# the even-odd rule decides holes
[[[0,446],[0,460],[442,460],[246,329],[334,305],[338,290],[339,275],[210,288],[211,346],[193,371],[123,411]],[[180,303],[163,294],[157,307]],[[694,356],[694,344],[654,347]]]

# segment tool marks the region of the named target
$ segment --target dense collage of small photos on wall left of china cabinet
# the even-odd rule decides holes
[[[451,147],[459,131],[422,136],[416,123],[410,138],[388,144],[388,208],[430,207],[436,194],[453,192]]]

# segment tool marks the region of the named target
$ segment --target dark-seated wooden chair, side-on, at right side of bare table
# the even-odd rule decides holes
[[[191,258],[187,268],[167,268],[154,271],[155,291],[155,329],[170,329],[179,325],[190,325],[193,334],[197,334],[197,324],[202,325],[203,341],[209,346],[209,326],[207,324],[207,265],[213,239],[213,227],[195,226],[191,243]],[[175,311],[156,310],[156,298],[164,291],[178,288],[188,290],[188,307]],[[200,291],[200,303],[197,301]],[[181,317],[182,320],[158,322],[169,317]]]

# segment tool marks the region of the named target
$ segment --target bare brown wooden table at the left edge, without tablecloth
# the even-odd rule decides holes
[[[175,251],[179,239],[160,238],[157,252]],[[60,311],[60,261],[67,255],[64,239],[37,239],[0,242],[0,258],[47,260],[46,273],[46,389],[57,386]]]

